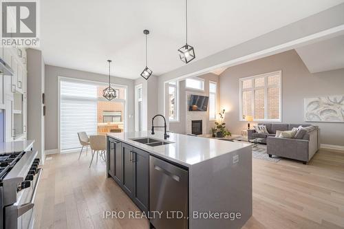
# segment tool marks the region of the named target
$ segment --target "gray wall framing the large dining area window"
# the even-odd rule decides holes
[[[45,65],[45,149],[58,149],[58,76],[109,82],[109,76]],[[111,83],[127,85],[128,131],[134,130],[134,80],[111,77]],[[29,107],[29,106],[28,106]]]

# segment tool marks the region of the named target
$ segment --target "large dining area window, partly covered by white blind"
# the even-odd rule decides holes
[[[87,135],[104,134],[113,130],[125,131],[127,89],[114,86],[117,98],[107,100],[103,89],[108,85],[86,80],[61,78],[60,141],[61,151],[80,147],[78,132]]]

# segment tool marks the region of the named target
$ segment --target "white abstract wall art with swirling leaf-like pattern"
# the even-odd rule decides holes
[[[306,122],[344,122],[344,95],[305,98]]]

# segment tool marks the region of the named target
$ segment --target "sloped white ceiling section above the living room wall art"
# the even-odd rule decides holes
[[[336,36],[295,50],[311,73],[344,68],[344,36]]]

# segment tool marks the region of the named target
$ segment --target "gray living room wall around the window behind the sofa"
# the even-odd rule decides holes
[[[229,67],[219,76],[219,98],[233,133],[247,129],[239,121],[239,78],[282,70],[282,122],[303,121],[303,98],[344,94],[344,69],[310,74],[294,50]],[[344,145],[344,123],[310,122],[321,129],[321,144]]]

